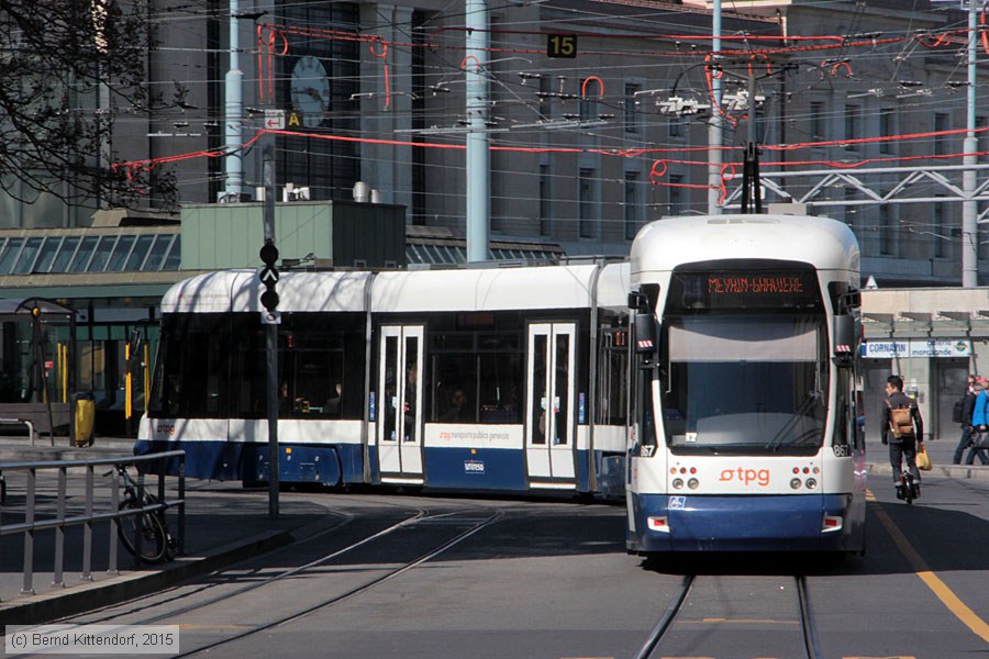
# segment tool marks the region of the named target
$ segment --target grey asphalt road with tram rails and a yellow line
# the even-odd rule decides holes
[[[382,494],[340,523],[168,591],[62,621],[177,625],[190,656],[632,658],[692,578],[651,657],[976,657],[989,652],[989,481],[927,478],[912,506],[873,483],[868,552],[627,556],[624,509]],[[801,580],[804,590],[801,592]]]

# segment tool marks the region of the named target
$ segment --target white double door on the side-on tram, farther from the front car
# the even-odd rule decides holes
[[[381,327],[378,461],[382,481],[422,482],[422,325]]]

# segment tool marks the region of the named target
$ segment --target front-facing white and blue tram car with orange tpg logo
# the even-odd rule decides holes
[[[673,217],[640,232],[631,267],[627,550],[863,551],[848,227]]]

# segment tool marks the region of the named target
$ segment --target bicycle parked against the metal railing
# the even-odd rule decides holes
[[[138,485],[125,466],[118,465],[116,472],[124,487],[124,498],[118,506],[119,511],[140,511],[162,503],[157,496]],[[111,473],[113,473],[112,470],[103,476],[107,477]],[[141,492],[141,496],[138,496],[138,492]],[[167,507],[167,504],[165,506]],[[124,548],[134,557],[137,557],[137,525],[141,524],[141,556],[138,558],[144,563],[156,565],[175,558],[176,540],[171,537],[168,522],[165,518],[166,507],[146,513],[132,512],[119,518],[116,534]]]

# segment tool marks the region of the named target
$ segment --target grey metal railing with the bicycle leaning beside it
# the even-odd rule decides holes
[[[166,460],[177,458],[179,461],[179,470],[176,478],[178,479],[177,498],[166,500],[165,498],[165,467]],[[129,465],[148,465],[157,462],[157,502],[149,503],[142,509],[119,510],[120,505],[120,474],[119,466]],[[112,466],[112,478],[103,479],[102,482],[109,483],[109,510],[96,511],[96,470],[100,467]],[[81,515],[66,516],[66,484],[68,480],[69,469],[85,470],[85,500],[84,513]],[[38,470],[57,470],[58,483],[57,495],[55,498],[55,514],[43,520],[36,518],[37,513],[37,472]],[[65,529],[71,526],[82,526],[82,569],[81,579],[84,581],[92,581],[92,532],[93,524],[99,522],[110,523],[110,543],[109,543],[109,567],[108,572],[111,574],[119,573],[116,565],[118,554],[118,528],[122,517],[133,514],[154,514],[156,511],[166,511],[168,509],[177,510],[176,524],[176,545],[178,555],[185,552],[186,538],[186,451],[169,450],[158,454],[149,454],[146,456],[132,456],[126,458],[101,458],[96,460],[45,460],[36,462],[0,462],[0,472],[23,471],[26,472],[25,479],[25,501],[24,501],[24,521],[14,524],[0,524],[0,537],[23,534],[24,535],[24,567],[23,567],[23,588],[22,595],[34,594],[34,537],[40,530],[55,530],[54,545],[54,570],[52,584],[55,587],[65,585],[64,582],[64,565],[65,565]],[[135,477],[137,481],[138,501],[144,501],[144,473],[138,469]],[[11,480],[8,478],[8,484]],[[7,511],[0,511],[10,514]],[[19,509],[20,512],[20,509]],[[0,517],[2,520],[2,517]],[[140,554],[140,546],[138,546]],[[134,557],[134,563],[140,565],[137,555]]]

